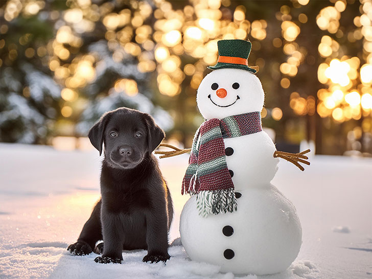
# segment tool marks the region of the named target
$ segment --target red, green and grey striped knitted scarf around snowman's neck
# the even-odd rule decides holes
[[[259,111],[205,121],[194,136],[182,195],[197,195],[199,215],[237,210],[234,183],[228,171],[224,138],[262,131]]]

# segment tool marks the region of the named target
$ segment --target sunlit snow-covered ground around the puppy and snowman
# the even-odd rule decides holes
[[[99,199],[98,152],[0,144],[0,278],[223,278],[219,267],[190,261],[172,246],[164,264],[142,263],[144,250],[123,252],[122,265],[94,263],[67,252]],[[160,160],[175,215],[170,241],[188,199],[180,183],[188,155]],[[247,279],[372,278],[372,160],[315,156],[300,172],[282,161],[273,184],[297,208],[303,245],[283,273]],[[238,277],[236,277],[238,278]]]

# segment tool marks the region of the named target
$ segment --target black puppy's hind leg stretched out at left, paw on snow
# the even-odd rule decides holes
[[[102,240],[101,200],[96,204],[90,218],[84,224],[78,241],[68,246],[67,250],[74,255],[87,255],[92,252],[96,242]]]

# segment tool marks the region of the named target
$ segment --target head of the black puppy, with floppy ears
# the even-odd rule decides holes
[[[133,169],[160,144],[164,131],[153,118],[134,109],[118,108],[105,113],[89,131],[91,144],[115,169]]]

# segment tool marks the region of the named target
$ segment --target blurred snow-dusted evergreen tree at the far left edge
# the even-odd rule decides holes
[[[9,22],[1,14],[0,141],[46,144],[60,100],[45,57],[52,22],[48,13],[21,13]]]

